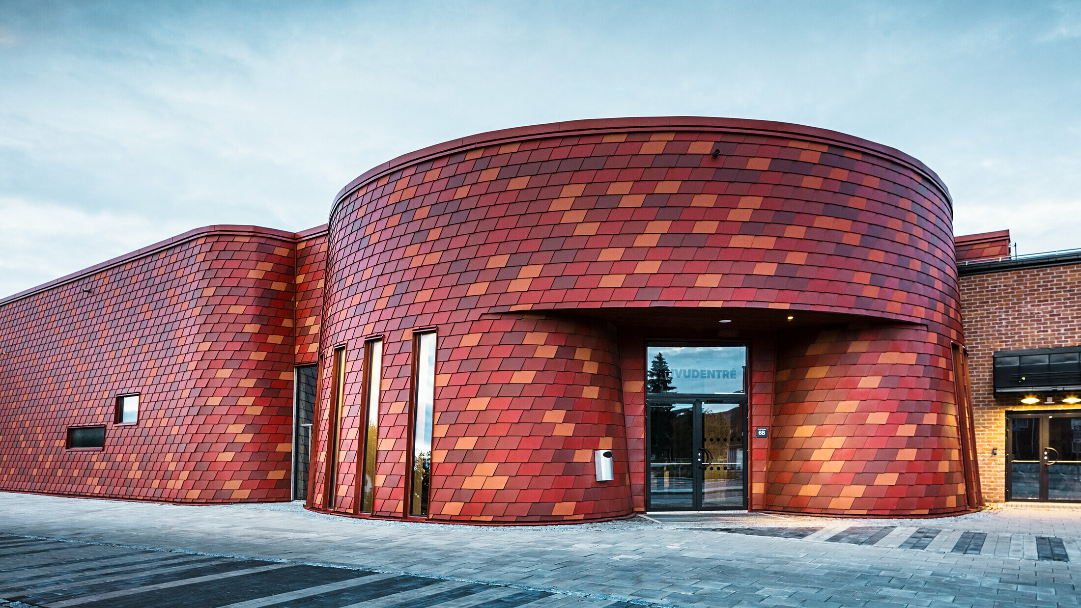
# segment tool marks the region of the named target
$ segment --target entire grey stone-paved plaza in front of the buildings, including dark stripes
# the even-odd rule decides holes
[[[1072,505],[480,527],[5,492],[0,514],[0,598],[15,607],[1081,604]]]

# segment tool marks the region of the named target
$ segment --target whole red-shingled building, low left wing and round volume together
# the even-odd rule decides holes
[[[916,159],[793,124],[432,146],[326,226],[193,230],[0,300],[0,489],[503,524],[978,509],[951,216]]]

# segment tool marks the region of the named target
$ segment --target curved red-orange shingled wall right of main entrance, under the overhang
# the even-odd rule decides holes
[[[926,515],[966,508],[948,342],[922,327],[790,334],[764,508]]]

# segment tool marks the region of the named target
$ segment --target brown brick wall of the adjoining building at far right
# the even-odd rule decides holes
[[[960,285],[980,482],[985,499],[999,502],[1005,497],[1006,409],[1077,406],[1024,405],[1024,395],[1016,393],[996,397],[991,355],[1081,344],[1081,265],[973,274],[962,276]]]

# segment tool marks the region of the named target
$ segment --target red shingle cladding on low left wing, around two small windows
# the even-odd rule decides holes
[[[2,305],[0,488],[289,499],[293,243],[204,232]],[[138,423],[116,425],[131,392]],[[104,424],[104,449],[65,449],[78,424]]]

